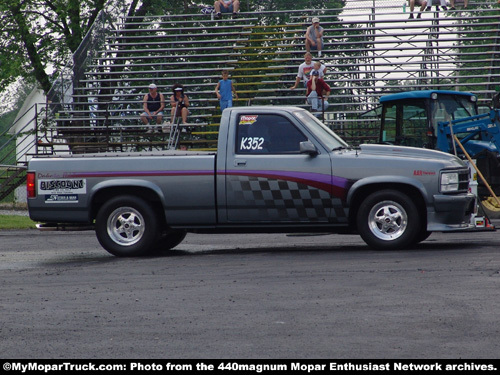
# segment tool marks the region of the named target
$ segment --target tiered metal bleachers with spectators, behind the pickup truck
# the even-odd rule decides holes
[[[144,127],[139,118],[152,82],[166,99],[174,83],[185,87],[191,106],[180,145],[213,149],[220,121],[214,89],[222,69],[229,70],[238,92],[235,106],[306,107],[303,86],[290,86],[304,60],[304,33],[313,15],[325,28],[321,61],[328,66],[325,80],[332,89],[324,120],[348,141],[373,140],[377,119],[360,115],[377,106],[383,94],[453,89],[477,93],[487,103],[495,93],[500,82],[496,2],[471,1],[465,10],[433,9],[413,20],[400,5],[357,9],[352,3],[357,2],[314,14],[241,12],[236,19],[220,20],[199,13],[123,17],[107,30],[83,74],[73,79],[71,98],[53,103],[49,130],[39,135],[40,149],[165,148],[169,133]],[[276,22],[269,21],[273,18]],[[164,117],[170,117],[168,100]]]

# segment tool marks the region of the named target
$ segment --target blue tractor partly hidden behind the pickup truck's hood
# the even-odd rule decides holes
[[[491,196],[486,185],[500,195],[498,94],[492,108],[478,107],[474,94],[445,90],[389,94],[380,98],[380,104],[374,110],[380,116],[379,143],[436,149],[465,159],[461,147],[453,142],[456,136],[487,181],[485,184],[477,179],[480,201],[486,202]],[[486,211],[498,216],[494,207]]]

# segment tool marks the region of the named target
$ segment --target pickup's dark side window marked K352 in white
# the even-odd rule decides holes
[[[237,154],[298,153],[307,141],[294,124],[278,115],[240,115],[236,131]]]

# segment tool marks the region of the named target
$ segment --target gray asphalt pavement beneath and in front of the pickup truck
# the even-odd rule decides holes
[[[92,232],[0,231],[3,358],[498,358],[500,232],[196,235],[122,259]]]

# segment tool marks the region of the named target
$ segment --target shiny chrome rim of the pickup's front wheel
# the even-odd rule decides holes
[[[381,240],[392,241],[402,236],[408,226],[405,209],[394,201],[379,202],[368,214],[370,231]]]

